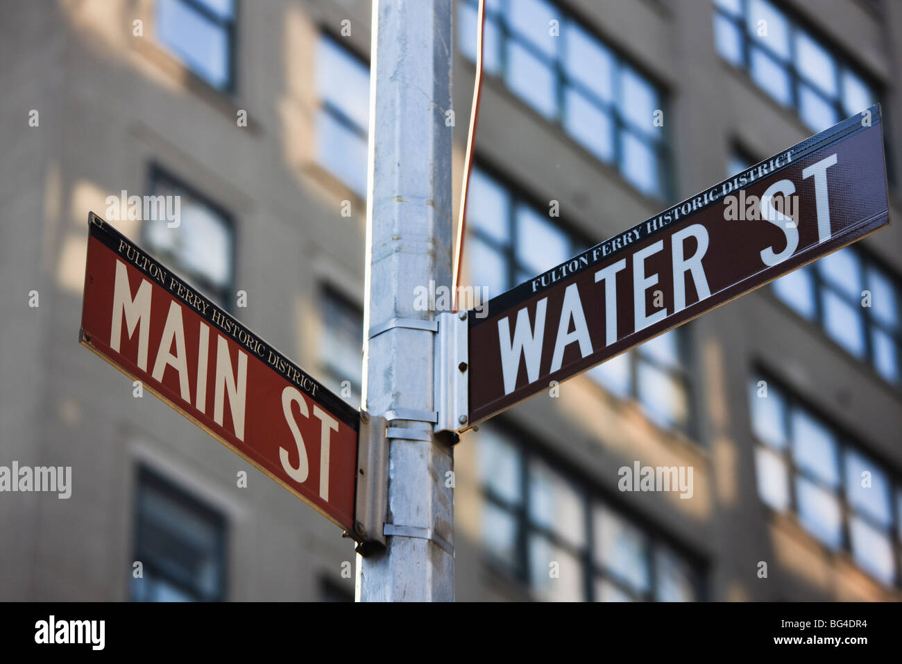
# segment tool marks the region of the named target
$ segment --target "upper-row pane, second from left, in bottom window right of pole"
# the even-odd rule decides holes
[[[529,519],[566,542],[584,546],[582,497],[571,482],[536,459],[529,461]]]

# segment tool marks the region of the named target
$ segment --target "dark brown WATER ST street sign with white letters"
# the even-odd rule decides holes
[[[875,105],[467,316],[467,426],[888,223]]]

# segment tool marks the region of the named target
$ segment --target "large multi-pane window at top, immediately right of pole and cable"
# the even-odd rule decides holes
[[[472,61],[477,7],[458,5],[460,48]],[[547,0],[489,0],[483,69],[640,192],[667,197],[663,127],[654,122],[661,92],[573,17]]]

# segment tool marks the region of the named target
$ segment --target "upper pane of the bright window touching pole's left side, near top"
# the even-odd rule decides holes
[[[370,70],[327,38],[319,40],[317,91],[322,101],[335,107],[354,126],[364,131],[369,126]]]

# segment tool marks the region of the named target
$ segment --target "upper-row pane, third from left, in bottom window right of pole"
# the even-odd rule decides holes
[[[648,542],[639,528],[603,505],[596,505],[594,558],[597,565],[639,593],[649,589]]]

